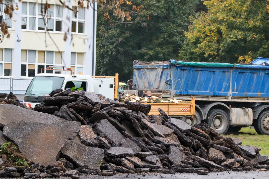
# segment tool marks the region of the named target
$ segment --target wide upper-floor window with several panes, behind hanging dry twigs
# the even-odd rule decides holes
[[[22,3],[22,29],[62,32],[62,21],[62,6],[51,5],[44,19],[44,4]]]

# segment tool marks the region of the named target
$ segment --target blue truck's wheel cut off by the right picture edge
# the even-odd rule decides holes
[[[269,135],[269,111],[264,111],[259,115],[254,128],[258,134]]]

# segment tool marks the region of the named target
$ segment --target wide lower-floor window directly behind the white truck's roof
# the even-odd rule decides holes
[[[62,65],[62,52],[22,50],[21,54],[21,76],[34,77],[49,65],[56,63]],[[42,73],[61,73],[61,71],[42,70]]]

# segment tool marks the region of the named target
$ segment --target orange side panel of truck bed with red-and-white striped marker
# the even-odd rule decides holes
[[[148,115],[160,114],[158,108],[161,108],[170,117],[194,116],[195,100],[192,98],[190,103],[142,103],[151,104]]]

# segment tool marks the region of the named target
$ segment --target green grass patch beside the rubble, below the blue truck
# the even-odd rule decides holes
[[[242,145],[257,146],[261,148],[261,155],[269,155],[269,135],[259,135],[255,129],[243,127],[238,133],[227,134],[225,137],[239,138],[242,140]]]

